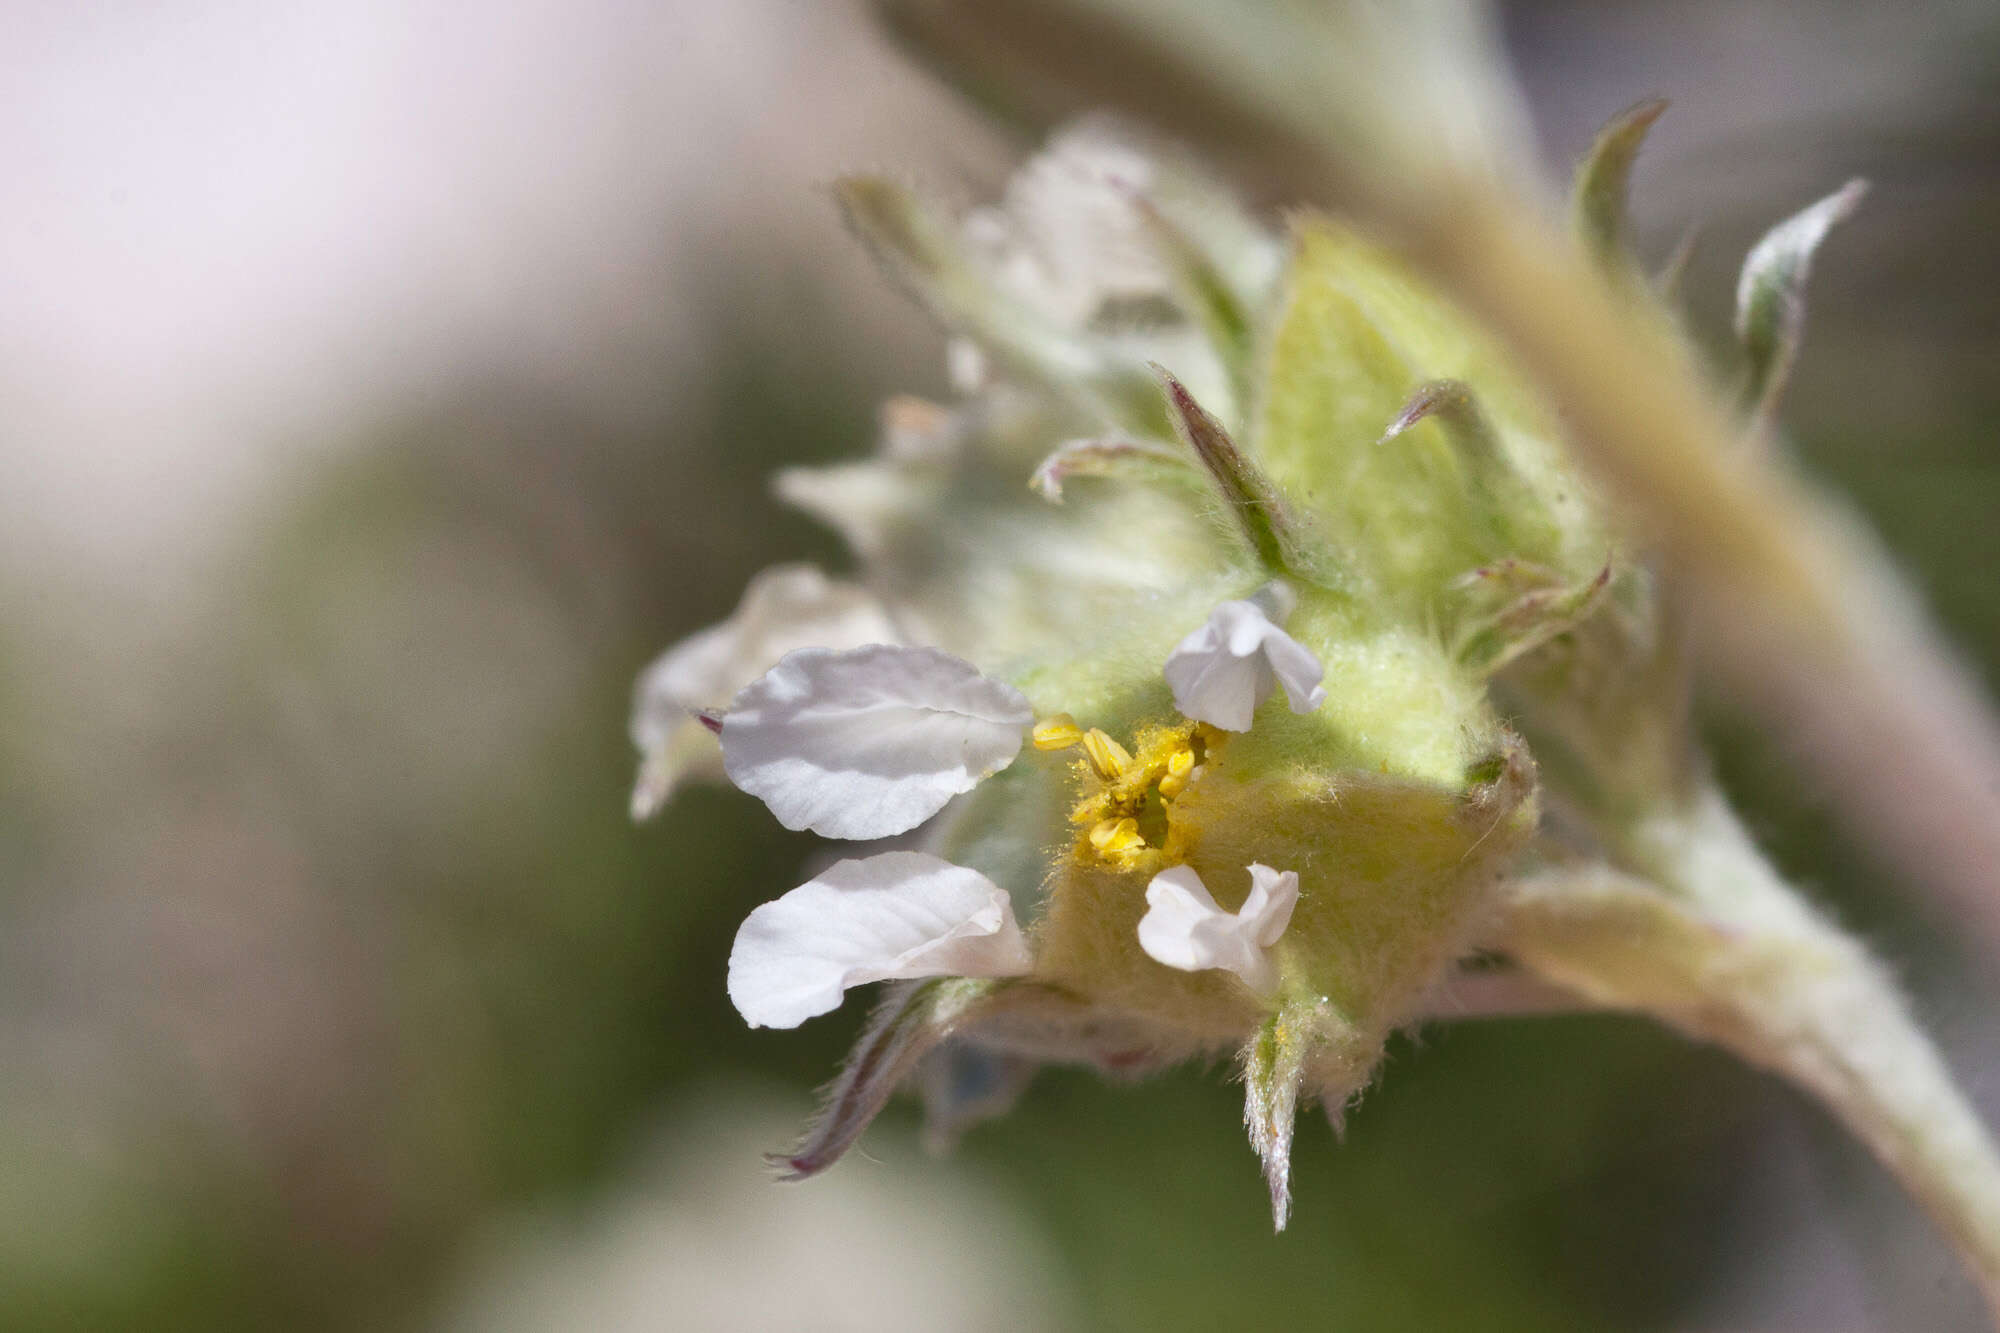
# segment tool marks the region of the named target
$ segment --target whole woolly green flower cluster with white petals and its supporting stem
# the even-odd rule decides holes
[[[1634,302],[1624,172],[1656,114],[1578,182]],[[948,1141],[1040,1063],[1228,1055],[1282,1227],[1298,1107],[1338,1125],[1398,1027],[1514,981],[1722,1041],[1906,1147],[1900,1093],[1838,1075],[1874,1059],[1842,1029],[1862,1001],[1904,1041],[1894,991],[1712,789],[1644,550],[1476,324],[1338,220],[1272,228],[1102,120],[966,218],[878,178],[840,200],[950,330],[958,398],[896,398],[876,456],[782,472],[856,576],[762,574],[634,717],[640,815],[726,775],[788,829],[898,839],[736,937],[752,1025],[894,983],[792,1175],[904,1081]],[[1750,414],[1852,202],[1746,266]],[[1990,1165],[1976,1121],[1952,1133]]]

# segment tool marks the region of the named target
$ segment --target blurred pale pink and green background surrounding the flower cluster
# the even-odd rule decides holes
[[[624,819],[650,652],[778,556],[762,484],[942,390],[822,184],[1008,142],[848,4],[8,0],[0,36],[0,1325],[1970,1329],[1788,1091],[1634,1021],[1432,1029],[1292,1231],[1220,1071],[1046,1075],[926,1161],[766,1183],[856,1013],[742,1031],[802,841]],[[1634,98],[1648,252],[1852,174],[1790,420],[2000,662],[2000,14],[1506,8],[1562,170]],[[2000,1113],[1994,961],[1726,707],[1780,863]],[[850,1007],[852,1011],[854,1007]]]

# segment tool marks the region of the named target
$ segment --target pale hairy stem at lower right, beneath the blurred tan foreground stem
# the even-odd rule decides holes
[[[1922,1203],[2000,1321],[2000,1157],[1882,969],[1712,793],[1630,851],[1646,879],[1588,867],[1516,885],[1506,953],[1812,1091]]]

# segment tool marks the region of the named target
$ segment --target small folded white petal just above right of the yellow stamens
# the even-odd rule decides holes
[[[1254,600],[1216,606],[1166,658],[1174,707],[1198,723],[1250,731],[1250,717],[1280,685],[1292,713],[1312,713],[1326,703],[1320,658],[1278,628],[1266,610],[1282,612],[1288,602],[1290,592],[1270,584]]]

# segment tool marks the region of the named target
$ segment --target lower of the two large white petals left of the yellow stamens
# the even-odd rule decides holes
[[[1006,889],[898,851],[840,861],[750,913],[730,949],[730,1003],[750,1027],[798,1027],[868,981],[1020,977],[1032,967]]]

